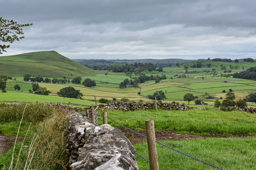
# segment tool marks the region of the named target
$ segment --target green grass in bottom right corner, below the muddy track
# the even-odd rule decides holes
[[[255,138],[207,138],[161,142],[223,169],[255,169]],[[147,143],[139,143],[134,148],[136,152],[148,158]],[[214,169],[158,144],[157,153],[161,169]],[[149,164],[138,155],[136,160],[139,169],[149,169]]]

